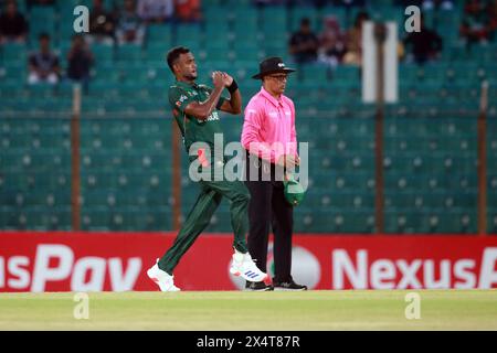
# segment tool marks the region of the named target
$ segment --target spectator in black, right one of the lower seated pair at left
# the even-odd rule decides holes
[[[93,62],[93,54],[84,36],[81,34],[74,35],[67,53],[67,78],[81,83],[85,93],[88,92],[89,69]]]

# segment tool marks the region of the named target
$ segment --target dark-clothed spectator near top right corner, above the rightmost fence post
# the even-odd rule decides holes
[[[464,6],[461,36],[467,45],[486,43],[490,35],[490,21],[486,4],[480,0],[467,0]]]

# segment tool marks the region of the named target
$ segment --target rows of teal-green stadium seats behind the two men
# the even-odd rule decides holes
[[[33,7],[24,1],[31,31],[27,44],[0,49],[0,229],[71,228],[72,85],[28,86],[27,57],[39,32],[49,32],[62,57],[70,47],[67,23],[75,4]],[[108,6],[113,1],[106,1]],[[307,6],[229,7],[204,0],[201,23],[152,24],[142,47],[93,44],[92,83],[81,120],[82,227],[161,231],[171,228],[172,81],[165,53],[176,44],[197,55],[201,81],[212,69],[237,78],[244,103],[260,89],[251,76],[266,55],[284,56],[289,34],[308,17],[315,30],[334,14],[342,28],[358,9]],[[374,18],[396,20],[402,9],[382,1]],[[475,233],[477,122],[480,81],[490,83],[487,122],[488,232],[497,233],[497,44],[468,51],[457,38],[461,7],[427,22],[444,38],[442,58],[416,66],[401,63],[400,100],[385,107],[384,201],[388,233]],[[288,95],[297,109],[297,132],[309,143],[309,190],[295,210],[296,232],[373,233],[374,114],[360,101],[355,66],[297,66]],[[241,117],[222,115],[225,140],[240,139]],[[189,181],[183,154],[182,214],[199,188]],[[231,232],[223,202],[208,231]]]

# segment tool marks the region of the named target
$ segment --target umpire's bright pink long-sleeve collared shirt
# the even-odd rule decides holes
[[[282,95],[273,97],[264,87],[245,108],[242,146],[252,154],[275,163],[283,154],[297,157],[295,106]]]

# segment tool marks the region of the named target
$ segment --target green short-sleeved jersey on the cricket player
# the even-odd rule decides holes
[[[214,133],[223,133],[216,110],[212,111],[204,120],[197,119],[184,111],[184,108],[192,101],[202,103],[208,100],[211,93],[212,89],[205,85],[188,84],[179,81],[169,87],[169,104],[183,136],[187,153],[194,142],[208,143],[213,152]],[[224,100],[222,97],[219,99],[216,109],[221,108]]]

